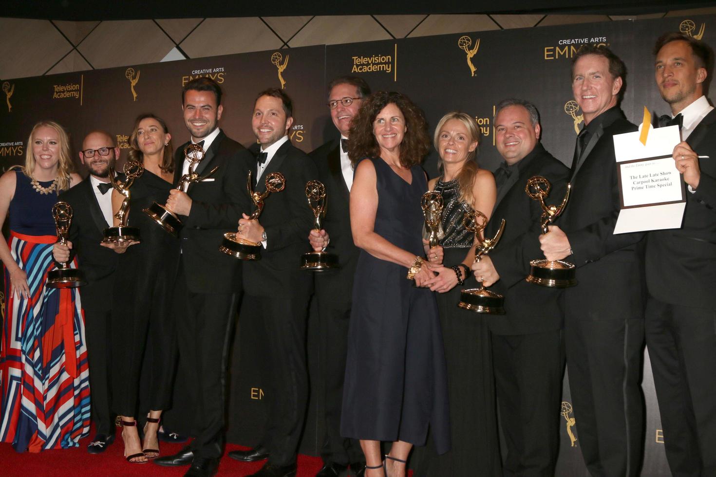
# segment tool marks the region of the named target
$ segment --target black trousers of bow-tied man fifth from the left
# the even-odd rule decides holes
[[[309,297],[255,297],[245,295],[241,313],[258,315],[264,323],[269,362],[269,418],[261,444],[269,463],[296,462],[308,403],[306,320]]]

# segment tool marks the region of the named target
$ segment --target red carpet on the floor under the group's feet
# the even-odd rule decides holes
[[[94,436],[94,434],[93,434]],[[90,476],[183,476],[188,470],[182,467],[161,467],[152,462],[128,463],[122,457],[124,445],[120,430],[117,439],[101,454],[87,453],[89,438],[79,441],[79,448],[43,451],[41,453],[16,453],[10,444],[0,443],[0,473],[4,476],[31,477],[90,477]],[[163,456],[180,451],[185,444],[159,443]],[[229,444],[226,451],[240,449]],[[248,476],[263,466],[261,462],[238,462],[226,454],[219,464],[219,476]],[[299,456],[297,477],[314,477],[321,468],[321,458]]]

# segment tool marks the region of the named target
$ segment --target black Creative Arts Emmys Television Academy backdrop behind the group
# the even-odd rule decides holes
[[[251,112],[256,94],[267,87],[284,88],[294,99],[291,141],[310,152],[334,137],[325,85],[344,74],[363,77],[374,91],[386,89],[408,94],[425,111],[432,127],[445,112],[468,112],[480,127],[478,162],[490,170],[500,162],[494,147],[495,105],[508,97],[528,99],[541,113],[543,145],[569,165],[574,139],[584,120],[571,93],[572,56],[581,45],[595,44],[609,46],[624,59],[628,73],[621,106],[627,117],[638,124],[644,106],[652,115],[669,112],[654,82],[652,54],[654,41],[666,31],[682,31],[716,46],[716,16],[692,16],[309,46],[7,79],[2,81],[0,94],[0,99],[5,99],[5,104],[0,102],[0,167],[6,170],[24,162],[27,136],[32,125],[41,119],[55,119],[67,128],[75,155],[87,132],[106,129],[116,137],[122,148],[122,160],[125,159],[134,119],[145,112],[163,117],[174,144],[181,144],[188,139],[180,110],[181,87],[200,76],[211,77],[221,84],[225,93],[221,127],[247,147],[255,141]],[[431,177],[438,174],[436,164],[437,154],[432,152],[425,160],[425,169]],[[312,310],[309,372],[318,376],[314,316]],[[236,330],[228,385],[228,437],[236,443],[253,445],[261,438],[266,417],[265,350],[260,323],[251,315],[241,316]],[[191,431],[191,423],[186,419],[187,415],[193,415],[191,387],[178,373],[175,408],[165,418],[165,423],[178,431]],[[647,410],[642,475],[668,476],[646,353],[642,388]],[[317,417],[321,415],[322,390],[316,378],[311,380],[311,389],[301,451],[315,455],[323,435],[323,424]],[[556,413],[563,424],[557,473],[586,476],[579,451],[579,421],[574,418],[567,375],[563,403]],[[479,436],[464,438],[479,445]]]

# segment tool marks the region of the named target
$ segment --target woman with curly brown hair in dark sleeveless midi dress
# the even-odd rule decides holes
[[[435,296],[420,287],[430,277],[421,241],[420,197],[427,180],[419,164],[430,144],[425,129],[420,109],[395,92],[364,99],[351,129],[349,157],[357,163],[351,228],[362,250],[341,433],[360,440],[366,477],[405,476],[407,456],[425,443],[429,427],[438,452],[450,447]],[[385,473],[380,441],[393,443]]]

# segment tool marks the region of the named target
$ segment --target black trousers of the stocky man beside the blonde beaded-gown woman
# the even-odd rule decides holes
[[[492,334],[505,476],[554,475],[564,371],[561,330]]]

